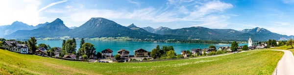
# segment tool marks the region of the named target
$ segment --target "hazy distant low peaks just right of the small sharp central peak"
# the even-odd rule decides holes
[[[172,30],[171,28],[168,27],[162,27],[160,26],[159,28],[153,29],[152,27],[143,27],[142,29],[150,32],[150,33],[155,33],[155,34],[163,34],[164,31]]]

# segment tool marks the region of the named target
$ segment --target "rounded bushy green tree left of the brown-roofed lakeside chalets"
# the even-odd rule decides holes
[[[94,53],[95,50],[96,48],[91,43],[84,43],[81,48],[82,52],[86,52],[85,54],[88,56],[88,58],[92,56],[93,54],[96,54]]]

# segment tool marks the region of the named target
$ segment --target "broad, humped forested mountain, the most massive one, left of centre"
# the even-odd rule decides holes
[[[131,28],[136,28],[135,25],[130,25]],[[97,37],[130,37],[130,38],[153,38],[153,39],[168,39],[178,38],[187,39],[187,37],[173,37],[171,35],[158,35],[148,32],[132,30],[122,26],[112,20],[104,18],[91,18],[83,25],[73,29],[68,33],[70,37],[77,38],[97,38]]]

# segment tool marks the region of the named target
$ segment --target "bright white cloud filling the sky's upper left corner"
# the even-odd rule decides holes
[[[58,2],[59,3],[59,2]],[[58,4],[57,3],[57,4]],[[0,2],[0,25],[10,25],[18,20],[28,25],[37,25],[46,17],[40,16],[40,11],[55,5],[49,4],[46,7],[38,9],[42,4],[39,0],[3,0]]]

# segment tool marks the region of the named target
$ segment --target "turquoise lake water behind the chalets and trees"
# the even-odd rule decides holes
[[[85,42],[92,43],[95,45],[96,52],[109,48],[113,52],[113,55],[117,54],[117,51],[125,49],[130,52],[130,55],[134,55],[134,50],[143,48],[147,51],[152,51],[157,45],[160,46],[173,46],[175,53],[180,54],[181,50],[191,50],[193,48],[208,48],[210,45],[215,45],[216,48],[221,46],[231,46],[230,44],[198,44],[198,43],[166,43],[166,42],[139,42],[139,41],[98,41],[98,40],[85,40]],[[37,40],[37,43],[49,44],[50,47],[62,47],[62,40]],[[76,49],[79,49],[80,40],[76,40]],[[239,46],[247,45],[239,44]]]

